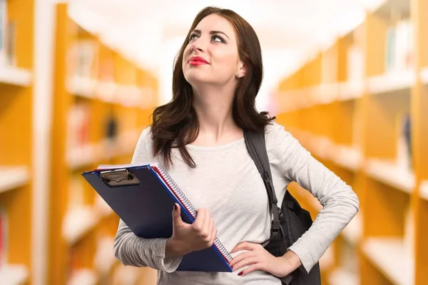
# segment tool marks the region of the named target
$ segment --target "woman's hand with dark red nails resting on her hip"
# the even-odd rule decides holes
[[[295,271],[301,264],[299,257],[291,251],[288,251],[282,257],[274,257],[260,244],[241,242],[232,250],[232,253],[240,250],[248,250],[248,252],[238,254],[230,262],[233,271],[248,266],[248,268],[238,274],[240,276],[244,276],[255,270],[263,270],[277,277],[284,277]]]

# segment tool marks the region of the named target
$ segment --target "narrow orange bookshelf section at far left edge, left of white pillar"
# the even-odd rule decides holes
[[[12,285],[31,282],[33,6],[0,1],[0,280]]]

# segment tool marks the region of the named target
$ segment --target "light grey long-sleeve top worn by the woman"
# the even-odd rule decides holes
[[[150,130],[149,127],[141,133],[132,163],[162,162],[161,157],[152,155]],[[312,227],[290,247],[302,266],[310,271],[355,217],[359,199],[349,185],[315,160],[282,125],[268,125],[265,138],[278,205],[287,185],[295,181],[317,197],[323,206]],[[173,150],[173,167],[168,172],[196,209],[210,210],[220,242],[229,252],[240,242],[265,242],[270,237],[272,216],[263,180],[248,154],[244,138],[215,147],[187,147],[197,167],[188,167],[178,150]],[[158,269],[158,284],[162,285],[280,285],[279,279],[264,271],[246,276],[238,276],[239,271],[175,271],[181,258],[165,258],[165,242],[166,239],[137,237],[120,221],[114,251],[123,264]]]

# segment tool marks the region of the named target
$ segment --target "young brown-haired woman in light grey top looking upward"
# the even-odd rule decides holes
[[[175,62],[173,99],[154,110],[132,160],[166,165],[198,217],[185,224],[175,206],[169,239],[136,237],[121,221],[114,250],[123,264],[158,269],[158,284],[281,284],[277,277],[299,266],[310,271],[357,214],[351,187],[255,109],[262,78],[260,43],[250,24],[227,9],[200,11]],[[243,130],[265,132],[278,204],[296,181],[324,206],[283,257],[260,245],[270,237],[270,208]],[[232,274],[175,271],[184,254],[210,247],[215,237],[233,254]]]

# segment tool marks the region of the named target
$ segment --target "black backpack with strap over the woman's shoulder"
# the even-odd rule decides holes
[[[264,247],[273,256],[281,257],[288,247],[294,244],[310,228],[312,217],[310,217],[310,213],[307,210],[300,207],[299,202],[292,197],[288,190],[285,192],[281,208],[277,207],[277,197],[272,183],[270,162],[266,151],[265,134],[245,131],[244,138],[248,152],[265,183],[273,214],[270,239]],[[320,264],[317,262],[309,273],[305,269],[296,269],[291,274],[283,277],[281,281],[282,284],[286,285],[320,285]]]

